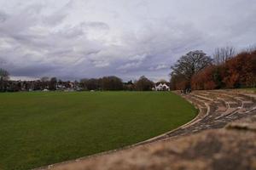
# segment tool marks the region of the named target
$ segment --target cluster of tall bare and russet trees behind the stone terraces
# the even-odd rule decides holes
[[[236,54],[235,48],[217,48],[213,57],[203,51],[192,51],[172,65],[173,90],[254,87],[256,87],[255,48],[239,54]]]

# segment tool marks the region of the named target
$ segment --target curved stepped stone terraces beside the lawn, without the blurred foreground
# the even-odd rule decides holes
[[[227,123],[243,116],[250,115],[255,110],[255,101],[251,94],[238,94],[228,90],[195,91],[183,95],[196,105],[201,116],[186,127],[180,127],[168,133],[168,138],[178,138],[202,130],[224,127]],[[256,98],[255,98],[256,99]]]

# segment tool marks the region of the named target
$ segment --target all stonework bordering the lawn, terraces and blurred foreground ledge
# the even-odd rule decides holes
[[[42,169],[256,169],[256,104],[252,96],[200,91],[183,97],[201,110],[188,125],[126,150]]]

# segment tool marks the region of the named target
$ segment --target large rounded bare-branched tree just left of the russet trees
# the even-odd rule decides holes
[[[191,78],[195,73],[203,70],[208,65],[212,65],[211,57],[203,51],[190,51],[177,60],[177,63],[171,67],[171,86],[172,89],[183,89],[191,87]],[[174,81],[174,82],[173,82]]]

